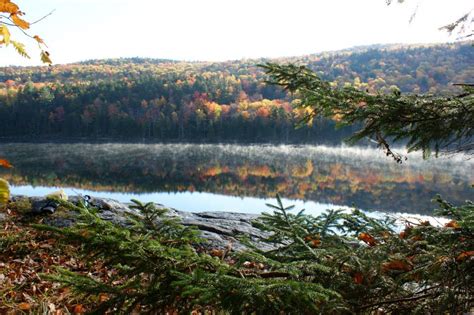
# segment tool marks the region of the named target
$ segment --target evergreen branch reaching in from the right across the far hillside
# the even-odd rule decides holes
[[[334,119],[338,126],[361,124],[348,138],[355,143],[370,138],[398,162],[402,157],[390,148],[390,142],[406,143],[408,152],[421,150],[428,157],[434,151],[465,152],[474,150],[474,88],[462,84],[457,95],[369,93],[353,86],[334,87],[305,66],[267,63],[262,67],[270,83],[296,93],[296,107],[307,115],[301,123],[318,116]]]

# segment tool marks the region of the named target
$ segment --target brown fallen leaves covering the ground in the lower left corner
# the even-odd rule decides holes
[[[32,223],[42,219],[24,210],[18,204],[0,210],[0,314],[83,314],[106,300],[105,294],[79,297],[48,278],[58,267],[102,279],[113,271],[101,261],[86,263],[76,246],[35,229]]]

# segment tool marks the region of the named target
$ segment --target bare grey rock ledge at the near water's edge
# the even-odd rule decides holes
[[[78,203],[81,197],[70,197],[69,201]],[[76,221],[77,213],[74,211],[55,211],[57,204],[44,197],[14,196],[13,201],[27,199],[31,204],[31,214],[43,216],[45,224],[67,227]],[[129,224],[127,214],[138,214],[136,210],[130,209],[128,204],[120,203],[107,198],[90,198],[88,202],[98,209],[98,215],[107,221],[127,226]],[[161,204],[155,204],[158,208],[165,208]],[[258,215],[235,212],[185,212],[176,209],[168,209],[168,215],[181,219],[186,226],[195,226],[201,231],[206,240],[205,246],[212,248],[231,248],[234,251],[246,249],[246,245],[239,241],[240,236],[246,236],[250,242],[262,250],[271,250],[274,247],[262,241],[268,236],[254,226],[252,220],[258,219]]]

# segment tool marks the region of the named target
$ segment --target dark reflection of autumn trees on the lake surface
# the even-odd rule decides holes
[[[399,166],[304,147],[15,144],[3,146],[0,154],[16,161],[16,169],[6,176],[16,185],[256,197],[280,193],[388,211],[426,212],[438,192],[468,199],[472,181],[449,166]]]

